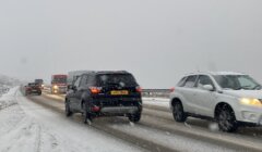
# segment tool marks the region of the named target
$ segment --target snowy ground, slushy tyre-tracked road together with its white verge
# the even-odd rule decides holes
[[[7,97],[12,102],[0,110],[1,152],[262,150],[260,136],[211,131],[209,123],[196,119],[175,123],[165,100],[144,99],[143,116],[136,125],[127,118],[107,117],[86,126],[81,115],[64,116],[61,96],[25,98],[16,88]]]

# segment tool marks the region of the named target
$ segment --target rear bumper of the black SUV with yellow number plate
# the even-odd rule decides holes
[[[138,112],[140,112],[138,106],[111,106],[100,110],[103,114],[134,114]]]

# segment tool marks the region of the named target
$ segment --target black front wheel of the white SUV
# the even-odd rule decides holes
[[[235,113],[229,105],[225,104],[217,110],[216,119],[222,131],[234,132],[238,129]]]

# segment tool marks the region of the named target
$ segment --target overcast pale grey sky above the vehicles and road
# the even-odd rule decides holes
[[[262,81],[261,0],[0,1],[0,73],[127,69],[144,88],[195,71]]]

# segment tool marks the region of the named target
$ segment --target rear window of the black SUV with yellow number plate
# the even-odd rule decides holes
[[[138,86],[136,80],[131,74],[103,74],[97,76],[99,86],[121,86],[134,87]]]

